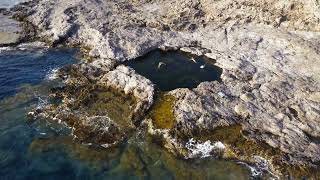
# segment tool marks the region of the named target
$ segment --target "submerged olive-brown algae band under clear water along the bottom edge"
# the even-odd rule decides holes
[[[239,164],[178,159],[145,137],[140,138],[131,139],[134,143],[107,149],[79,144],[64,136],[35,139],[29,145],[28,156],[35,158],[62,150],[78,164],[86,164],[90,171],[104,171],[107,177],[121,179],[249,179],[249,170]]]

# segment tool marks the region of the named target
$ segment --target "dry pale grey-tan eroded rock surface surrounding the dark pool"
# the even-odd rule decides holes
[[[90,56],[108,62],[156,48],[183,48],[214,59],[223,69],[221,83],[171,93],[178,99],[175,129],[190,135],[194,128],[240,123],[251,138],[289,154],[288,162],[315,165],[319,12],[316,0],[40,0],[25,15],[42,38],[89,47]],[[106,82],[135,94],[131,71],[124,70],[109,72]],[[135,85],[149,106],[151,94]]]

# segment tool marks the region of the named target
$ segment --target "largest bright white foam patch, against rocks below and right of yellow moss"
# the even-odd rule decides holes
[[[211,142],[210,140],[206,142],[197,142],[193,138],[191,138],[186,143],[186,148],[189,150],[189,155],[186,157],[187,159],[190,158],[205,158],[211,156],[211,152],[213,151],[223,151],[225,149],[225,145],[220,142]]]

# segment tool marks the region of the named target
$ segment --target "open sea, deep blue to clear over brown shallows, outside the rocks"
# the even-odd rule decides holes
[[[45,100],[56,85],[46,80],[48,72],[74,63],[75,53],[52,49],[0,54],[0,179],[249,178],[249,170],[234,162],[177,159],[139,133],[119,147],[103,149],[76,143],[61,125],[28,120],[27,112],[41,105],[39,99]]]

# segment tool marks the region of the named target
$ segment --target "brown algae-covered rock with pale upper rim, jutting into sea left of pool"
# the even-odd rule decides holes
[[[52,89],[52,103],[32,114],[65,123],[80,142],[109,147],[123,141],[153,102],[153,84],[124,66],[107,72],[76,64],[57,74],[64,85]]]

